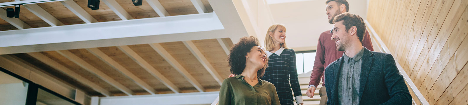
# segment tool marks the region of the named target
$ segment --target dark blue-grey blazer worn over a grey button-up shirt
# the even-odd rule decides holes
[[[339,105],[338,77],[343,60],[342,56],[325,69],[327,105]],[[359,105],[411,105],[412,98],[408,87],[396,68],[392,55],[365,49],[362,60]]]

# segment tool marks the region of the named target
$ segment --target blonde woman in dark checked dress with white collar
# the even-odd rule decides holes
[[[304,104],[296,70],[296,52],[286,46],[286,27],[274,24],[265,36],[266,54],[270,61],[261,78],[275,85],[281,105]],[[292,89],[291,89],[292,88]],[[292,90],[292,91],[291,91]]]

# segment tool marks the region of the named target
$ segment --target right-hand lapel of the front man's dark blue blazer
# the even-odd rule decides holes
[[[373,53],[369,49],[364,49],[364,55],[362,57],[361,76],[359,79],[359,100],[362,98],[362,92],[366,87],[367,77],[369,77],[369,71],[373,63]]]

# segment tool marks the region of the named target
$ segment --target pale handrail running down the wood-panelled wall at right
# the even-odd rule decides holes
[[[390,52],[390,50],[387,48],[387,46],[385,45],[385,43],[380,39],[379,35],[377,35],[375,30],[372,28],[369,21],[364,20],[364,22],[366,22],[367,28],[369,28],[368,31],[370,31],[372,33],[370,35],[373,36],[375,38],[375,40],[377,40],[377,42],[380,44],[380,46],[378,46],[378,47],[381,48],[385,53],[392,54]],[[403,70],[402,66],[398,63],[398,61],[396,59],[395,59],[395,63],[396,63],[396,67],[398,68],[398,71],[400,71],[400,74],[403,75],[403,79],[405,79],[406,83],[408,83],[409,87],[411,88],[413,93],[416,95],[416,98],[419,99],[419,101],[421,102],[422,105],[429,105],[426,98],[424,98],[424,96],[421,94],[421,92],[419,92],[419,89],[417,89],[416,85],[408,77],[408,74],[406,74],[405,70]],[[414,103],[414,99],[413,99],[413,103]]]

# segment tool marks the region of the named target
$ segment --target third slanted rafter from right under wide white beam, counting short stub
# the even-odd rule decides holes
[[[192,77],[192,75],[190,75],[190,73],[187,70],[185,70],[185,68],[183,68],[183,66],[179,62],[177,62],[177,60],[174,57],[172,57],[168,53],[168,51],[166,51],[166,49],[164,49],[159,43],[152,43],[152,44],[149,44],[149,45],[151,46],[151,48],[156,50],[156,52],[158,52],[161,55],[162,58],[164,58],[166,61],[168,61],[168,63],[170,65],[172,65],[172,67],[174,67],[174,69],[179,71],[179,73],[185,79],[187,79],[187,81],[189,81],[189,83],[192,84],[193,87],[195,87],[200,92],[205,91],[203,86],[200,83],[198,83],[197,79]]]

